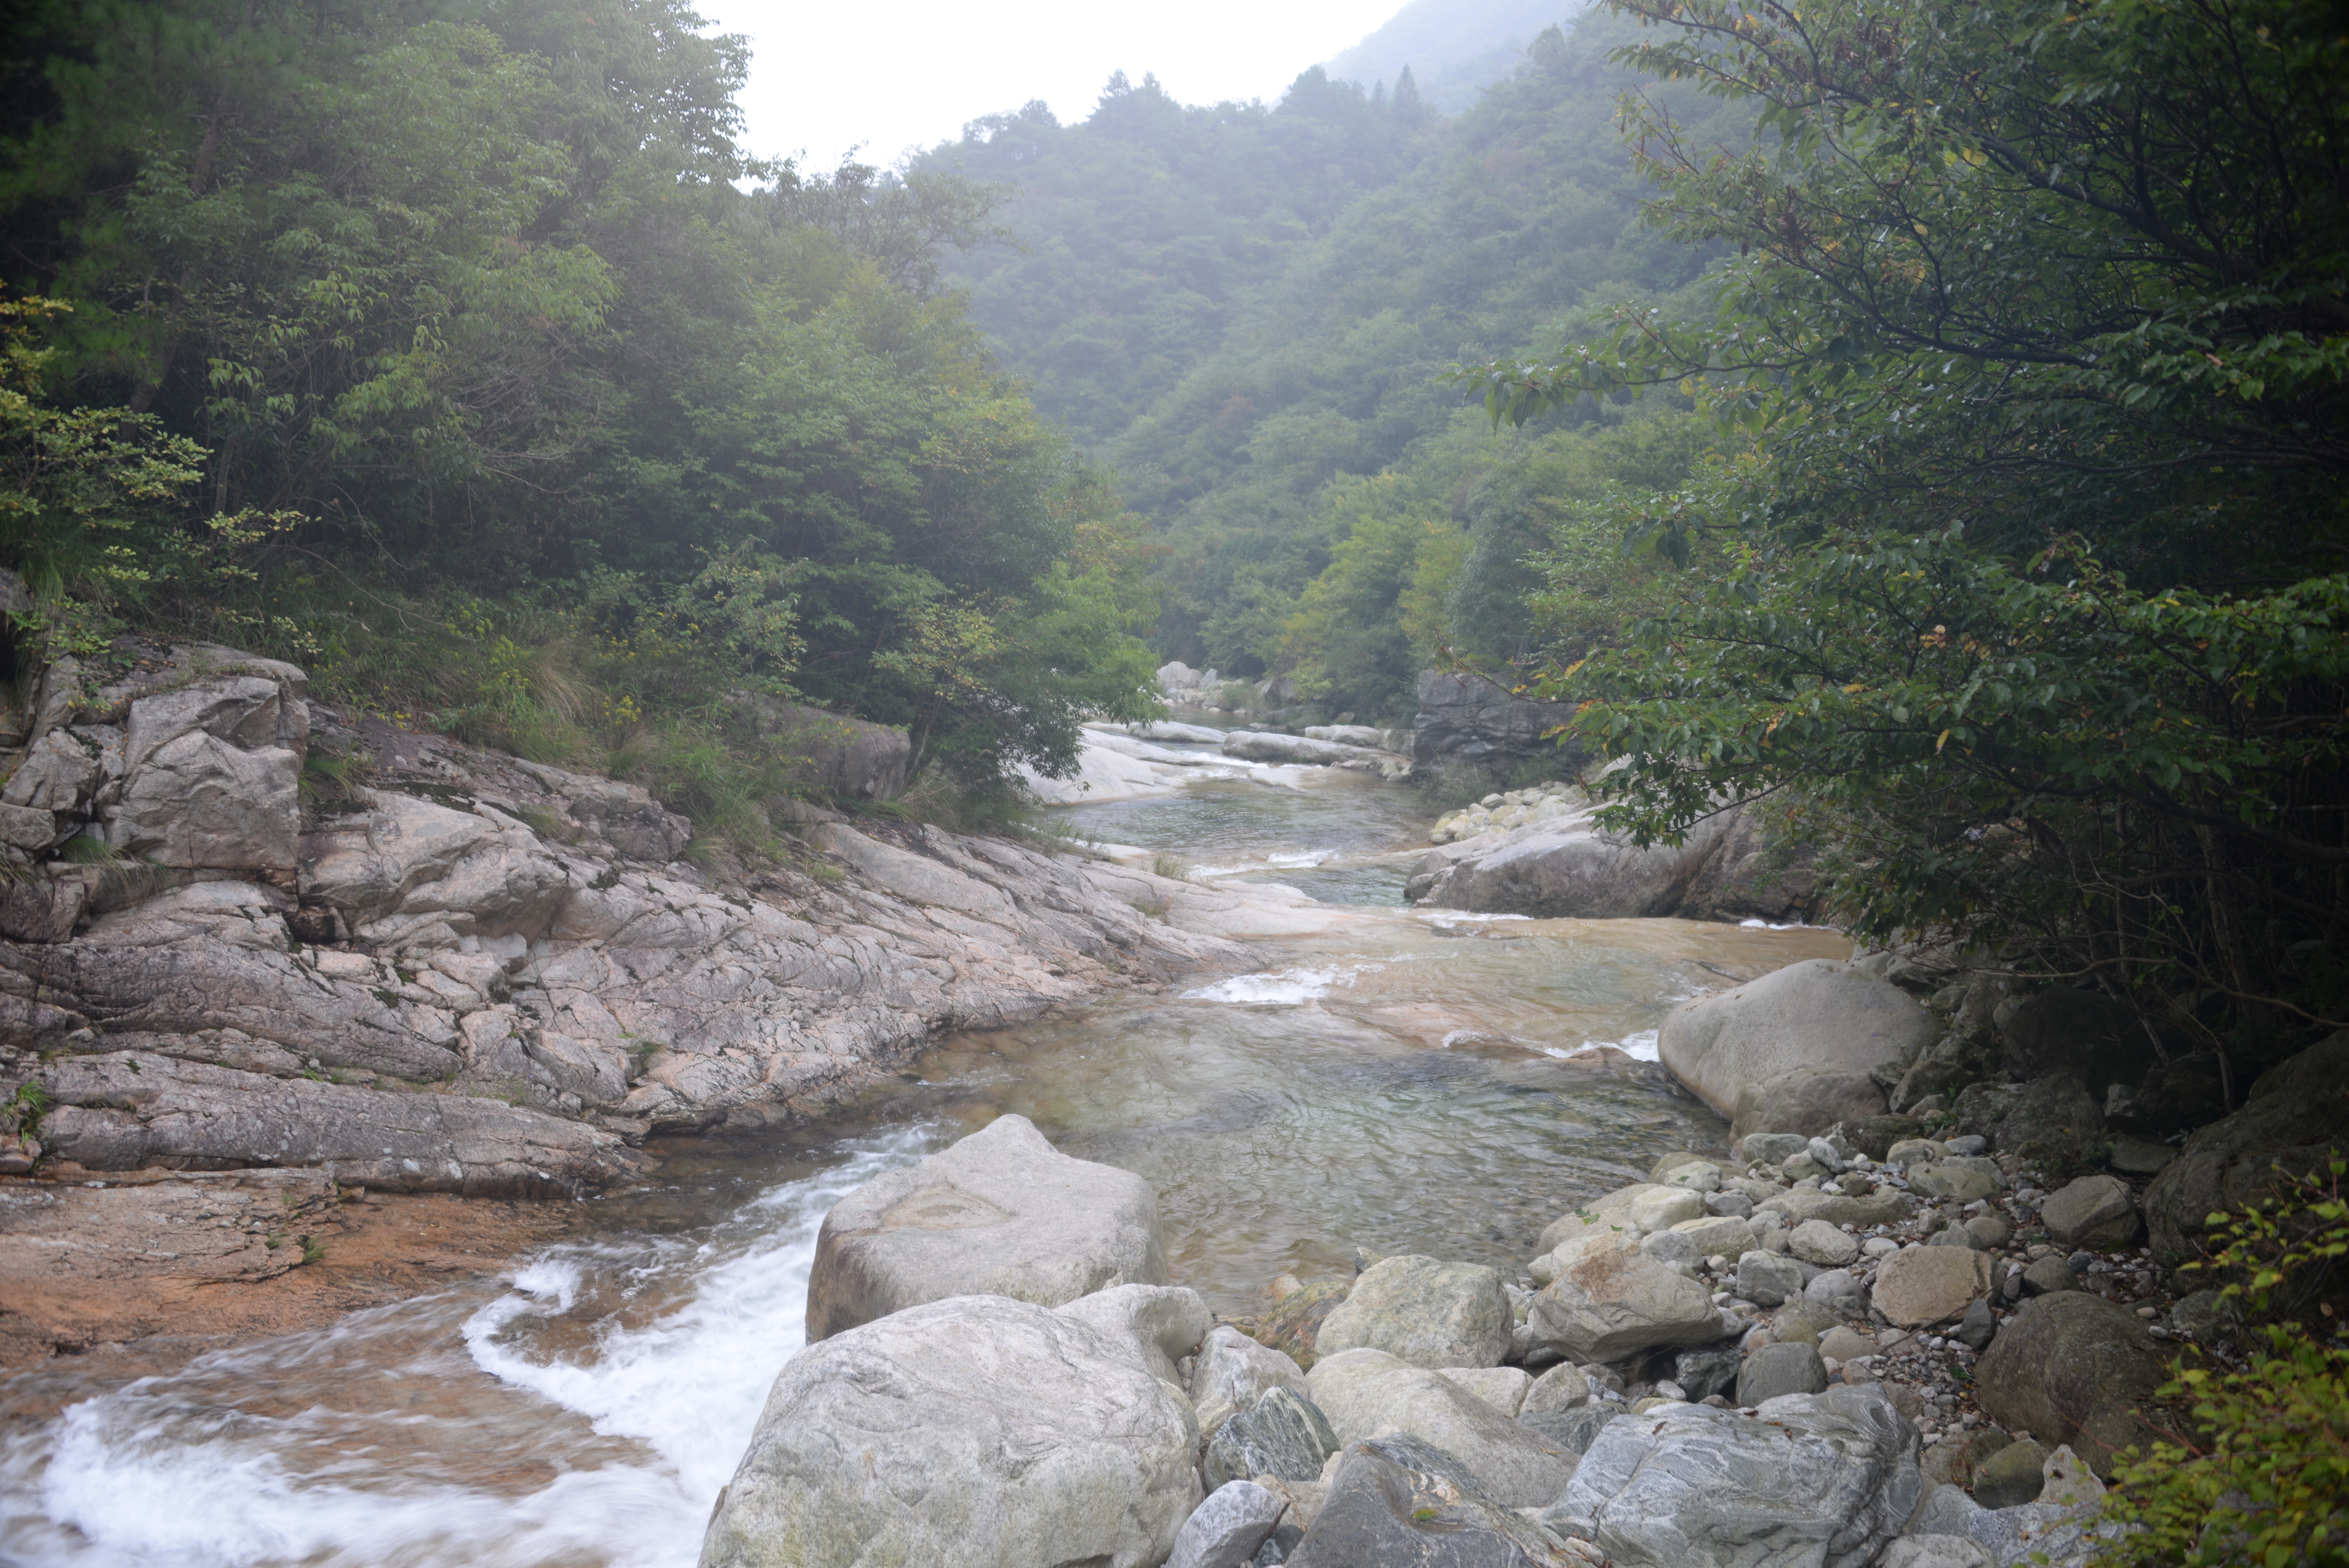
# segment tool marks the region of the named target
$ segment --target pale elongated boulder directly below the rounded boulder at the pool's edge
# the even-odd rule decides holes
[[[1574,1474],[1574,1460],[1527,1425],[1384,1350],[1322,1357],[1306,1385],[1341,1444],[1407,1432],[1456,1458],[1506,1507],[1543,1507]]]

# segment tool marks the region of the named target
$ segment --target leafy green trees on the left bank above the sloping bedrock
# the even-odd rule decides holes
[[[684,5],[14,26],[23,636],[211,634],[745,822],[749,695],[972,782],[1146,704],[1132,528],[940,289],[987,192],[747,157]]]

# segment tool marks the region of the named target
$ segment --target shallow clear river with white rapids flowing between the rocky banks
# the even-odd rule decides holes
[[[839,1124],[672,1141],[655,1185],[597,1199],[594,1242],[500,1282],[127,1387],[28,1373],[87,1378],[87,1397],[0,1446],[0,1563],[693,1563],[803,1343],[815,1230],[871,1174],[1015,1110],[1146,1176],[1177,1284],[1221,1312],[1285,1272],[1348,1272],[1355,1249],[1513,1268],[1564,1207],[1722,1138],[1626,1061],[1654,1056],[1675,1000],[1851,951],[1816,930],[1400,908],[1428,815],[1360,775],[1259,770],[1066,817],[1196,876],[1362,908],[1266,946],[1254,974],[942,1040]]]

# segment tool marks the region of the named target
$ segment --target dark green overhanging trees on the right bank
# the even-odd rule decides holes
[[[2349,45],[2288,0],[1616,9],[1759,113],[1626,103],[1649,221],[1736,246],[1715,310],[1459,378],[1727,437],[1600,505],[1689,582],[1546,681],[1630,758],[1609,822],[1783,793],[1856,932],[2217,998],[2206,1045],[2337,1021]]]

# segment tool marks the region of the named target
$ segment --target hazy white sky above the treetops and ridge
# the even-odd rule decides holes
[[[1299,70],[1346,49],[1402,0],[895,0],[787,5],[705,0],[752,40],[747,150],[829,169],[855,143],[874,164],[1043,99],[1083,120],[1111,70],[1156,70],[1184,103],[1273,101]]]

